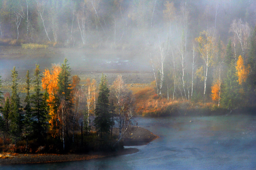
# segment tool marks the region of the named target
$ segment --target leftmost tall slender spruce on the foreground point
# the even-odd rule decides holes
[[[15,66],[12,70],[12,97],[10,103],[10,114],[8,115],[8,119],[10,122],[10,134],[12,141],[15,146],[20,139],[21,130],[22,130],[22,115],[20,114],[20,97],[18,94],[18,71],[15,70]]]

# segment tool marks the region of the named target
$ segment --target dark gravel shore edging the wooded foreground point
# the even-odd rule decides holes
[[[159,138],[147,129],[141,127],[130,127],[130,133],[124,136],[125,146],[146,145]],[[125,141],[128,140],[128,141]],[[30,164],[30,163],[53,163],[89,160],[108,156],[127,155],[139,152],[137,148],[123,148],[113,152],[88,152],[67,154],[33,154],[33,153],[3,153],[0,154],[0,165]]]

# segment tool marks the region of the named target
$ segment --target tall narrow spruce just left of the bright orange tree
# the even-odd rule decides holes
[[[37,129],[37,135],[41,135],[44,128],[43,128],[43,123],[45,121],[45,115],[42,111],[42,102],[43,102],[43,93],[41,93],[41,76],[40,76],[40,69],[39,65],[36,64],[36,69],[34,71],[34,76],[35,76],[35,88],[34,91],[35,93],[31,96],[31,102],[33,103],[33,115],[37,118],[36,122],[36,129]],[[40,136],[39,136],[40,138]]]

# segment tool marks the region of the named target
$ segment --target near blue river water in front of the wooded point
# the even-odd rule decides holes
[[[0,169],[256,169],[256,116],[137,118],[160,138],[139,152]],[[192,121],[192,122],[190,122]]]

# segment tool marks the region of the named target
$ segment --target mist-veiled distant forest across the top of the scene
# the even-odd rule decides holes
[[[157,42],[166,26],[170,33],[183,30],[186,46],[209,28],[227,39],[234,19],[254,26],[253,7],[254,1],[239,0],[3,0],[0,37],[129,49]]]

